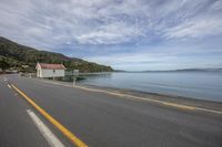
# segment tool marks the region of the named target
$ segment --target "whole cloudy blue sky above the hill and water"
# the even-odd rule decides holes
[[[0,35],[118,70],[222,67],[221,0],[0,0]]]

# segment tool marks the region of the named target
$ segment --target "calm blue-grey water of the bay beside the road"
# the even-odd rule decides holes
[[[222,102],[222,72],[149,72],[90,75],[80,84]]]

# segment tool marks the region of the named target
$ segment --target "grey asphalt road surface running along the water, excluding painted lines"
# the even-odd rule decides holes
[[[220,114],[0,75],[1,147],[49,146],[27,109],[32,109],[65,146],[72,146],[8,83],[14,84],[90,147],[222,147]]]

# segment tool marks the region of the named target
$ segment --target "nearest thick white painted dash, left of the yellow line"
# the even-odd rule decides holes
[[[27,113],[40,130],[42,136],[47,139],[51,147],[64,147],[64,145],[57,138],[57,136],[44,125],[44,123],[31,111],[27,109]]]

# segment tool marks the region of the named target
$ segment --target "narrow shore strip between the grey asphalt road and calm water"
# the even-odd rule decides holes
[[[61,82],[61,81],[53,81],[53,80],[46,80],[46,78],[42,80],[42,78],[37,78],[37,77],[34,78],[32,77],[32,80],[38,80],[38,81],[50,83],[50,84],[72,87],[72,83],[69,83],[69,82]],[[149,93],[149,92],[134,91],[134,90],[114,88],[114,87],[87,85],[87,84],[77,84],[73,87],[90,88],[93,91],[105,91],[107,93],[117,93],[120,95],[138,96],[138,97],[153,99],[153,101],[163,101],[165,103],[178,103],[181,105],[210,108],[213,111],[222,112],[222,102],[214,102],[214,101],[199,99],[199,98],[195,99],[192,97],[165,95],[165,94],[160,94],[160,93]]]

